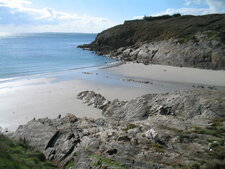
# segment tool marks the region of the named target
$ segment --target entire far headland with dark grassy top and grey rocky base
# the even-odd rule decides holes
[[[79,47],[144,64],[225,69],[225,14],[125,21]]]

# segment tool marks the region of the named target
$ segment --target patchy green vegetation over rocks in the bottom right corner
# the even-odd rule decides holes
[[[222,169],[225,168],[225,118],[214,119],[210,126],[192,126],[187,130],[178,130],[165,125],[161,129],[173,131],[179,136],[179,143],[187,146],[191,142],[201,144],[204,149],[199,158],[198,153],[190,157],[192,163],[185,164],[184,161],[177,159],[167,165],[177,169]],[[163,150],[161,145],[155,144],[154,147]]]

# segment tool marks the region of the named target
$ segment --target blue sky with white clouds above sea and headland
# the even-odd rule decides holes
[[[225,0],[0,0],[0,35],[98,33],[124,20],[175,13],[225,13]]]

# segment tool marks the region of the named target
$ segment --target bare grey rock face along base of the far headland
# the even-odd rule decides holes
[[[180,43],[177,39],[122,47],[110,56],[124,61],[163,64],[180,67],[225,69],[225,45],[220,39],[207,40],[203,34],[195,42]]]

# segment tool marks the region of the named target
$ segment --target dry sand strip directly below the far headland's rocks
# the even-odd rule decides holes
[[[166,65],[143,65],[128,62],[119,66],[106,68],[110,74],[129,76],[146,80],[164,82],[192,83],[212,86],[225,86],[225,71],[207,70]]]

